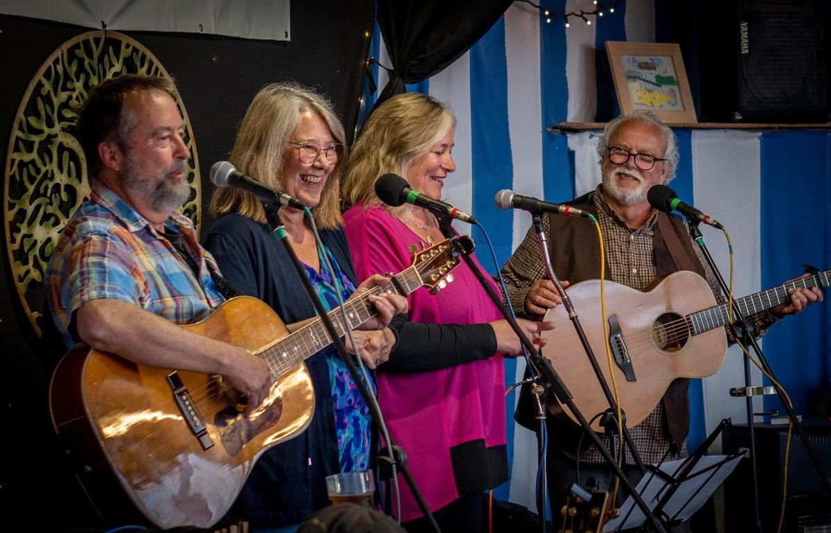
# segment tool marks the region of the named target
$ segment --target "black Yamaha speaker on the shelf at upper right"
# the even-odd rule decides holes
[[[828,0],[727,3],[700,15],[702,119],[828,122]]]

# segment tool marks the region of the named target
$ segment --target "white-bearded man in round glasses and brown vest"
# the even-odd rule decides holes
[[[704,277],[716,299],[723,301],[715,276],[692,242],[686,220],[654,210],[647,200],[647,191],[652,185],[665,185],[675,175],[678,148],[671,129],[649,112],[619,116],[607,124],[597,151],[602,184],[569,205],[587,210],[597,218],[606,250],[607,279],[642,290],[658,276],[692,270]],[[563,279],[563,286],[600,278],[600,251],[592,225],[560,215],[543,217],[543,225],[549,235],[553,270]],[[518,315],[541,318],[549,308],[563,303],[553,283],[545,279],[533,227],[504,265],[502,274],[508,285],[510,303]],[[784,314],[799,313],[806,305],[822,299],[815,288],[789,289],[789,293],[789,303],[750,317],[755,334],[761,336]],[[585,356],[575,353],[574,357]],[[597,357],[602,356],[597,354]],[[687,379],[673,381],[654,411],[643,422],[629,428],[632,442],[645,464],[686,455],[690,422],[688,385]],[[524,420],[523,408],[524,404],[520,403],[518,420]],[[589,418],[597,413],[583,414]],[[568,487],[573,482],[585,486],[588,478],[593,477],[599,488],[607,490],[612,471],[603,464],[597,448],[588,446],[589,439],[580,439],[582,430],[576,424],[562,422],[549,414],[546,426],[548,495],[555,526],[558,526]],[[600,437],[608,448],[608,437]],[[622,469],[632,484],[637,484],[641,473],[628,449],[624,450]],[[684,529],[682,525],[681,531]]]

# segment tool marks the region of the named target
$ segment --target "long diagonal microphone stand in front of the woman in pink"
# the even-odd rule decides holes
[[[484,231],[484,228],[479,225],[479,229]],[[448,236],[448,232],[450,231],[450,225],[445,225],[445,228],[442,229],[442,232],[445,236]],[[511,328],[516,333],[517,337],[519,338],[519,342],[528,350],[529,357],[531,358],[531,362],[534,364],[534,367],[537,368],[538,374],[541,377],[543,382],[543,387],[550,389],[551,392],[558,398],[558,400],[565,404],[568,407],[569,411],[571,411],[575,418],[578,419],[580,426],[583,427],[583,430],[588,434],[591,441],[597,447],[597,450],[600,451],[603,458],[612,466],[612,470],[614,471],[615,475],[620,478],[623,486],[626,486],[627,491],[632,495],[632,499],[634,499],[637,506],[641,509],[644,516],[647,516],[647,521],[652,525],[652,527],[658,533],[666,533],[666,528],[661,524],[660,521],[657,520],[652,511],[650,511],[649,506],[647,503],[643,501],[641,495],[637,493],[635,487],[632,486],[632,482],[629,481],[627,476],[623,473],[620,466],[617,466],[617,462],[614,461],[612,456],[609,454],[606,447],[602,445],[600,442],[600,437],[597,437],[597,433],[595,433],[592,427],[589,425],[588,421],[585,417],[583,417],[583,413],[580,412],[578,407],[573,402],[572,393],[568,391],[565,383],[563,380],[560,379],[558,373],[553,369],[551,363],[548,359],[543,358],[542,355],[537,351],[537,348],[534,348],[534,344],[529,341],[528,337],[525,336],[522,329],[519,328],[519,324],[514,320],[514,317],[511,316],[508,309],[505,308],[504,304],[502,303],[502,299],[499,295],[496,294],[493,287],[490,286],[488,280],[485,278],[484,274],[482,274],[479,267],[475,264],[470,254],[463,255],[462,259],[465,259],[465,263],[470,268],[470,271],[475,275],[476,279],[479,280],[479,284],[482,285],[485,292],[488,294],[490,299],[494,302],[494,305],[499,308],[499,312],[502,313],[504,319],[510,324]],[[553,511],[553,510],[552,510]],[[543,522],[545,521],[544,516],[540,517],[540,520]]]

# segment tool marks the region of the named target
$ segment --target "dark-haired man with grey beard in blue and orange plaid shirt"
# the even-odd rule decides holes
[[[169,78],[122,75],[81,106],[92,191],[52,254],[49,311],[66,349],[86,343],[147,366],[219,374],[253,409],[271,384],[263,359],[176,325],[224,301],[214,259],[175,212],[190,194],[176,98]]]

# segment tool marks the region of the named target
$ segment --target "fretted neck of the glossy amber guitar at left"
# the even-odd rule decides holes
[[[384,289],[373,287],[367,290],[365,294],[361,294],[360,297],[343,304],[348,321],[346,323],[343,319],[344,313],[341,312],[340,307],[327,313],[327,317],[332,321],[338,337],[346,335],[347,332],[352,331],[377,314],[375,307],[369,301],[371,294],[396,293],[407,296],[423,285],[416,266],[411,266],[400,274],[393,276],[391,282]],[[332,344],[332,339],[329,338],[327,328],[322,318],[317,318],[288,335],[288,337],[264,349],[258,355],[266,360],[272,373],[279,376],[330,344]]]

